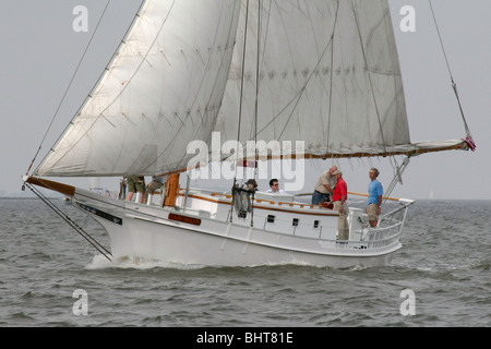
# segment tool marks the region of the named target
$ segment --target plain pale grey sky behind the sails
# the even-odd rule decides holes
[[[140,2],[111,1],[35,165],[92,89]],[[390,0],[390,4],[411,140],[464,137],[464,124],[428,0]],[[491,34],[491,1],[432,0],[432,4],[477,151],[443,152],[412,158],[404,173],[404,184],[398,185],[392,196],[488,200],[491,197],[487,176],[491,170],[491,40],[488,37]],[[72,26],[77,16],[73,9],[77,5],[88,10],[86,33],[77,33]],[[105,5],[103,0],[0,2],[0,160],[3,165],[0,196],[21,193],[21,177],[27,171],[48,130]],[[405,5],[416,10],[416,32],[399,29],[399,22],[405,17],[399,11]],[[304,191],[312,190],[319,171],[331,164],[316,163],[308,170]],[[352,159],[338,165],[350,191],[367,191],[368,169],[372,166],[381,169],[380,179],[384,184],[388,185],[392,180],[393,169],[386,159]],[[86,185],[87,180],[82,183]],[[264,181],[263,188],[266,186]]]

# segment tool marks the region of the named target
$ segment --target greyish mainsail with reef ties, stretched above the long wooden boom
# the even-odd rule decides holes
[[[237,139],[230,116],[242,105],[242,145],[302,140],[307,157],[418,154],[463,143],[411,143],[387,1],[252,1],[247,24],[244,12],[216,128],[221,139]]]

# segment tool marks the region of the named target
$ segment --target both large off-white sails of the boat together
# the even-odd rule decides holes
[[[386,0],[147,0],[35,174],[178,171],[214,131],[322,158],[465,147],[411,143]]]

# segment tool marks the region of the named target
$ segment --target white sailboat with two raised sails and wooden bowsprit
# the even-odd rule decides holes
[[[393,205],[375,228],[349,207],[349,238],[339,240],[338,212],[246,189],[243,172],[271,161],[400,156],[397,182],[411,157],[472,148],[466,131],[411,142],[386,0],[145,0],[23,181],[69,196],[100,222],[111,260],[380,266],[402,248],[414,200],[386,197]],[[181,174],[207,168],[230,190],[180,186]],[[130,174],[166,183],[140,203],[47,179]]]

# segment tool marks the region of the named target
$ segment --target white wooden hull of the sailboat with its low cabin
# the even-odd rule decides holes
[[[184,198],[181,196],[181,204]],[[380,266],[391,262],[400,249],[404,221],[396,229],[367,229],[350,210],[350,240],[336,241],[337,215],[310,205],[278,209],[278,203],[259,201],[254,205],[254,227],[249,219],[233,217],[229,222],[229,202],[200,193],[187,200],[187,209],[117,201],[76,190],[73,204],[87,212],[108,231],[113,257],[142,257],[167,263],[205,266],[256,266],[265,264],[306,264],[327,267]],[[285,204],[285,203],[283,203]],[[192,208],[207,205],[208,210]],[[179,207],[179,205],[177,205]],[[271,207],[268,207],[271,206]],[[404,217],[407,206],[404,206]],[[276,222],[262,219],[275,214]],[[288,229],[280,219],[319,220],[309,229]],[[307,217],[307,218],[306,218]],[[116,221],[116,222],[115,222]],[[334,229],[328,229],[328,225]],[[276,230],[276,231],[275,231]],[[363,236],[363,231],[366,236]],[[376,238],[379,236],[380,238]],[[364,239],[363,239],[364,238]]]

